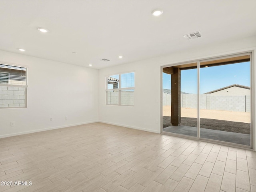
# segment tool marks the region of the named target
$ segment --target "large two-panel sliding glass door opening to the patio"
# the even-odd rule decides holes
[[[163,133],[252,146],[251,54],[163,68]]]

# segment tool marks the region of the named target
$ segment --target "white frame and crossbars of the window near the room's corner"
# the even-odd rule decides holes
[[[122,80],[121,80],[121,75],[122,74],[128,74],[128,73],[134,73],[134,87],[126,87],[126,88],[121,88],[121,83],[122,83]],[[108,89],[108,77],[109,76],[114,76],[114,75],[118,75],[118,88],[116,89]],[[134,90],[135,92],[135,71],[130,71],[130,72],[122,72],[122,73],[116,73],[116,74],[111,74],[111,75],[107,75],[105,77],[105,82],[106,82],[106,105],[113,105],[113,106],[135,106],[135,102],[133,105],[122,105],[121,104],[121,97],[122,97],[122,90]],[[118,104],[108,104],[108,91],[118,91]],[[135,100],[135,98],[134,98]]]

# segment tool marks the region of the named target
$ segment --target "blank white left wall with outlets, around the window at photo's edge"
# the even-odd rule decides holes
[[[98,70],[4,51],[0,62],[28,66],[27,108],[0,109],[0,138],[98,121]]]

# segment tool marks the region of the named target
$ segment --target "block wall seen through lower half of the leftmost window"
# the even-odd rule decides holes
[[[26,88],[20,86],[0,86],[0,108],[25,107]]]

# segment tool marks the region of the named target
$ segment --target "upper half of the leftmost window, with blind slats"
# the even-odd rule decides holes
[[[26,86],[26,68],[0,64],[0,84]]]

